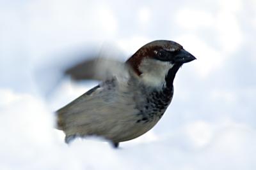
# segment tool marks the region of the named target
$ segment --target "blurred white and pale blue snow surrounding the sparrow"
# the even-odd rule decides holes
[[[155,39],[198,59],[156,127],[119,150],[66,145],[53,111],[97,82],[61,80],[49,97],[58,65],[109,43],[125,60]],[[1,0],[0,169],[256,169],[255,39],[255,0]]]

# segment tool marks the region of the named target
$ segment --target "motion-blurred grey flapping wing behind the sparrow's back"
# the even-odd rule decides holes
[[[111,66],[121,66],[122,62],[113,58],[124,59],[124,54],[118,47],[111,46],[111,44],[99,46],[93,45],[93,43],[76,49],[66,49],[59,54],[52,53],[51,55],[51,57],[46,56],[42,60],[36,60],[36,66],[33,71],[33,79],[37,85],[38,92],[47,97],[47,99],[52,97],[52,94],[63,81],[67,80],[67,76],[70,76],[75,81],[102,81],[106,79],[106,75],[109,75],[109,72],[110,74],[112,72],[107,69],[108,74],[105,73],[106,67],[109,66],[109,60],[114,60],[110,64]],[[99,57],[102,57],[102,59],[99,59]],[[105,59],[106,62],[104,62]],[[102,60],[102,64],[97,64],[99,60]]]

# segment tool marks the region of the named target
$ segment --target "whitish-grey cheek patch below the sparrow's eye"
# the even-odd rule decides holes
[[[140,64],[141,81],[152,87],[162,87],[169,69],[173,67],[170,62],[155,59],[144,59]]]

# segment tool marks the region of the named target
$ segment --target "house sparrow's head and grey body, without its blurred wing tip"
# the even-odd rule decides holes
[[[195,59],[178,43],[157,40],[125,63],[99,60],[95,72],[102,83],[56,111],[57,128],[66,143],[94,135],[117,148],[156,125],[172,101],[175,74]]]

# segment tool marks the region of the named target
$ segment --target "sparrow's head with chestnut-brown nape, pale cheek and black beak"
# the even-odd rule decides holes
[[[141,82],[148,86],[171,86],[182,64],[196,58],[174,41],[156,40],[142,46],[127,60]]]

